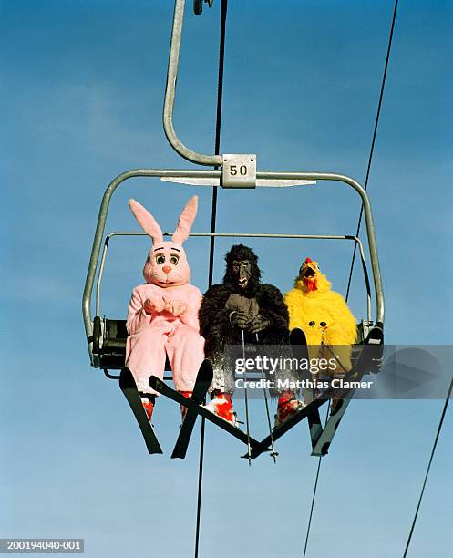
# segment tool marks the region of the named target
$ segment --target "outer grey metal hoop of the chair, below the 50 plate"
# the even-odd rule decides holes
[[[98,268],[99,254],[101,252],[102,239],[105,232],[105,226],[108,215],[108,207],[114,191],[118,188],[119,184],[131,178],[138,177],[188,177],[188,178],[220,178],[221,171],[198,171],[198,170],[175,170],[175,169],[135,169],[132,171],[123,172],[119,174],[107,187],[104,192],[102,202],[98,214],[98,223],[96,226],[95,237],[91,249],[91,255],[88,263],[87,279],[85,281],[85,288],[82,298],[82,315],[85,325],[85,331],[88,338],[88,350],[90,357],[91,346],[89,346],[93,335],[93,323],[91,318],[91,294],[95,283],[96,270]],[[360,196],[365,213],[366,234],[368,238],[368,248],[371,259],[371,268],[373,273],[373,281],[376,294],[376,325],[382,326],[384,324],[385,316],[385,303],[384,291],[382,287],[381,273],[379,269],[379,259],[377,256],[375,225],[373,222],[373,214],[371,212],[371,205],[368,196],[362,186],[354,179],[333,172],[293,172],[293,171],[261,171],[257,172],[257,178],[271,179],[271,180],[308,180],[308,181],[339,181],[351,186]]]

